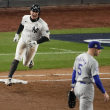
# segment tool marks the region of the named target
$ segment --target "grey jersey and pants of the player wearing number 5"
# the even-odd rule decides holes
[[[99,74],[98,66],[98,62],[87,53],[80,54],[75,59],[73,69],[76,70],[76,85],[74,92],[80,101],[80,110],[93,110],[93,76]]]

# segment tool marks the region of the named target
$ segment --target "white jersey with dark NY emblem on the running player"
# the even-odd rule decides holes
[[[30,15],[25,15],[22,18],[21,24],[24,29],[21,33],[21,38],[23,41],[38,40],[41,36],[46,36],[49,38],[50,32],[47,23],[39,18],[38,21],[32,22],[30,20]]]

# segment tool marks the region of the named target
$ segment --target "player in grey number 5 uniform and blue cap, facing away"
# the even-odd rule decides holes
[[[99,78],[98,62],[93,58],[99,55],[100,49],[103,49],[100,43],[92,41],[88,45],[87,53],[78,55],[74,62],[71,91],[75,92],[76,97],[80,101],[80,110],[93,110],[94,81],[102,92],[104,101],[109,100],[109,95]]]

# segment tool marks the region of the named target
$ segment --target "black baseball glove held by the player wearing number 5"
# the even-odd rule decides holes
[[[76,96],[73,91],[68,93],[68,106],[69,108],[74,108],[76,105]]]

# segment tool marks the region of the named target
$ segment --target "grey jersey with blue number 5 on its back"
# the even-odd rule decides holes
[[[76,57],[73,69],[76,70],[76,81],[93,82],[93,76],[99,74],[98,62],[88,53]]]

